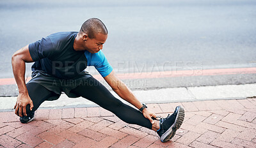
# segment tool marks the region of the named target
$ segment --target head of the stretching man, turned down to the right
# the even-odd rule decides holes
[[[81,26],[79,36],[83,50],[95,54],[103,48],[108,38],[108,29],[98,18],[90,18]]]

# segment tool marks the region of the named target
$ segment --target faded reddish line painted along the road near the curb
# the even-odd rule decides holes
[[[168,77],[190,77],[203,75],[236,75],[256,73],[256,68],[225,68],[211,70],[179,70],[179,71],[154,71],[146,73],[118,73],[120,79],[136,79],[136,78],[168,78]],[[98,80],[103,78],[100,75],[93,75]],[[28,82],[31,77],[28,77]],[[16,84],[14,78],[0,78],[0,85]]]

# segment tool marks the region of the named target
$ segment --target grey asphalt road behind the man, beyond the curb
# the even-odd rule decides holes
[[[0,16],[0,78],[13,77],[11,56],[19,48],[51,33],[79,31],[92,17],[108,27],[103,52],[117,73],[256,66],[256,1],[15,0],[0,1]],[[256,75],[169,80],[150,85],[244,84]]]

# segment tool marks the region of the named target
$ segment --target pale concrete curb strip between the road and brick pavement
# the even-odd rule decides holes
[[[115,92],[111,93],[122,100]],[[143,103],[173,103],[207,100],[239,100],[256,96],[256,84],[215,85],[201,87],[175,87],[152,90],[133,91],[138,100]],[[0,112],[12,111],[17,97],[0,97]],[[122,100],[124,101],[124,100]],[[124,101],[124,103],[126,103]],[[45,101],[40,108],[74,108],[98,107],[95,103],[82,97],[68,98],[61,94],[55,101]]]

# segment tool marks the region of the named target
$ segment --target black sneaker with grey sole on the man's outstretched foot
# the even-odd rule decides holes
[[[166,118],[157,117],[160,121],[160,128],[157,131],[161,142],[170,140],[180,128],[184,120],[184,109],[182,107],[176,107],[172,115],[168,115]]]

